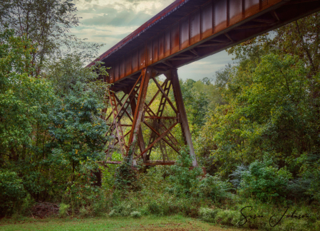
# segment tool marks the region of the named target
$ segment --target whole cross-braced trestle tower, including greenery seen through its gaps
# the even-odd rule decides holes
[[[105,163],[118,163],[112,161],[113,151],[118,151],[123,157],[128,156],[133,166],[139,160],[145,166],[172,165],[175,161],[170,161],[168,154],[178,153],[187,144],[192,166],[197,166],[177,69],[162,73],[166,79],[159,82],[155,78],[159,75],[157,70],[144,68],[130,87],[123,87],[121,92],[111,87],[108,91],[110,109],[105,109],[103,119],[110,123],[107,135],[111,139]],[[148,95],[150,81],[156,89]],[[158,149],[161,160],[150,161],[153,149]]]

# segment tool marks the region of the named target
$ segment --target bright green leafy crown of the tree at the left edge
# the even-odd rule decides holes
[[[0,33],[0,147],[1,155],[19,159],[19,145],[31,145],[34,124],[46,124],[46,114],[56,100],[45,80],[29,76],[33,71],[31,50],[36,46],[13,31]],[[37,137],[38,138],[38,137]]]

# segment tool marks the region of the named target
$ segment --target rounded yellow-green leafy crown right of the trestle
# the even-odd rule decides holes
[[[304,64],[292,56],[267,55],[261,60],[252,78],[241,71],[232,76],[224,90],[229,104],[210,114],[202,133],[213,141],[212,156],[224,174],[235,165],[261,160],[264,152],[289,162],[314,149],[303,142],[318,142]]]

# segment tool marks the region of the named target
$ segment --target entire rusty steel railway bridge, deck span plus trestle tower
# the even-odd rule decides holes
[[[104,110],[103,119],[113,139],[108,141],[105,163],[120,163],[110,161],[117,149],[133,166],[139,159],[146,166],[171,165],[174,161],[169,161],[167,147],[178,152],[184,142],[190,148],[192,166],[197,166],[177,68],[319,9],[320,0],[177,0],[167,6],[89,64],[102,61],[110,67],[109,75],[103,77],[112,84],[110,108]],[[162,74],[166,79],[160,83],[155,77]],[[147,102],[150,80],[157,90]],[[174,100],[170,100],[170,90]],[[182,134],[183,141],[172,132],[177,124],[181,131],[175,133]],[[155,145],[162,161],[150,161]]]

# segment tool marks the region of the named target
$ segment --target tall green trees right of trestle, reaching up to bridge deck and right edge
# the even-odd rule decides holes
[[[199,139],[225,177],[265,155],[299,177],[302,156],[319,153],[319,14],[272,33],[229,49],[238,63],[220,87],[228,104],[208,114]]]

